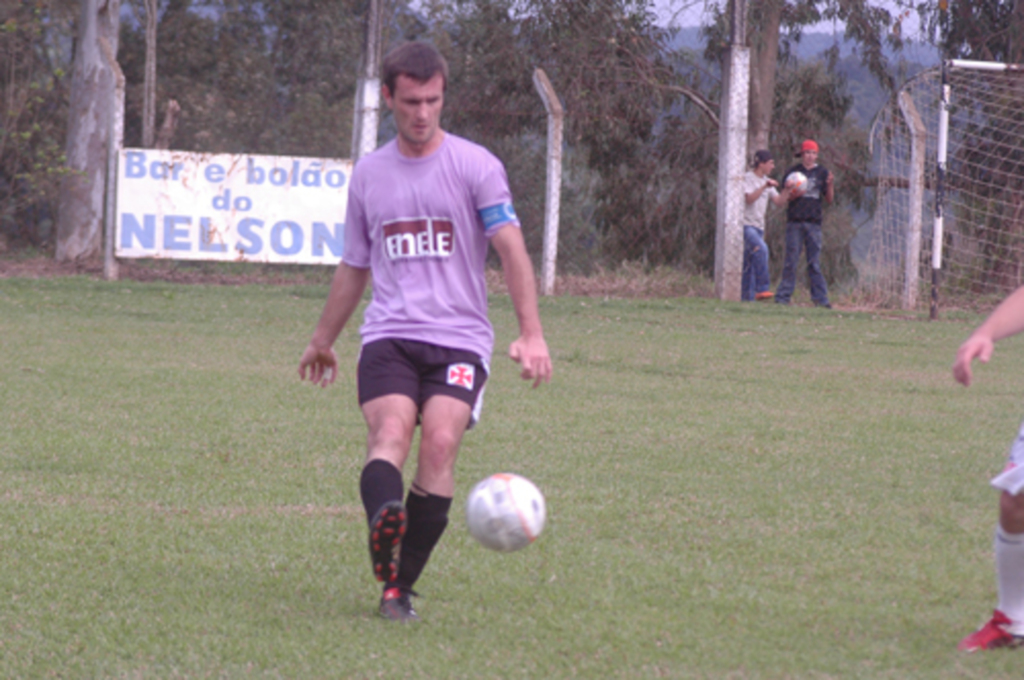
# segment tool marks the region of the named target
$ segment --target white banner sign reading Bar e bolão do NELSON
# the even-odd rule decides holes
[[[118,257],[337,264],[351,161],[125,148]]]

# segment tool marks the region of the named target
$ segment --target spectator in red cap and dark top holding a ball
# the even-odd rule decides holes
[[[828,286],[821,273],[821,201],[833,202],[833,174],[823,165],[818,165],[818,144],[806,139],[797,154],[801,162],[785,171],[782,185],[790,186],[796,173],[807,178],[806,185],[790,194],[790,205],[785,211],[785,260],[782,265],[782,280],[775,289],[775,302],[790,304],[797,285],[797,264],[800,251],[807,251],[807,278],[810,280],[811,300],[815,306],[831,309],[828,302]]]

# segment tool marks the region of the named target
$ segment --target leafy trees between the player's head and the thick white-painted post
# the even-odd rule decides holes
[[[681,101],[686,82],[651,7],[639,0],[430,7],[430,37],[452,61],[445,124],[502,155],[527,227],[542,223],[545,176],[546,119],[531,75],[542,68],[551,79],[565,109],[566,158],[575,164],[563,186],[559,239],[563,253],[578,256],[561,258],[572,270],[623,260],[708,269],[714,261],[707,233],[715,169],[683,167],[693,159],[680,150],[707,152],[710,163],[717,131]]]

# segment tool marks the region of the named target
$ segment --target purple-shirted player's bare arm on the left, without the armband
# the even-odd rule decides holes
[[[334,352],[334,341],[362,299],[362,292],[369,281],[370,269],[351,267],[344,262],[338,265],[316,330],[299,359],[300,380],[306,379],[308,369],[311,383],[327,387],[334,382],[338,376],[338,355]]]

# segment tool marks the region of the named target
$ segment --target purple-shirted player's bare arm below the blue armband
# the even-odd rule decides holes
[[[512,297],[519,337],[509,345],[509,357],[522,367],[520,377],[532,380],[534,387],[551,380],[551,355],[544,340],[541,313],[537,307],[537,281],[526,253],[522,231],[513,225],[501,227],[490,239],[505,271],[505,284]]]

